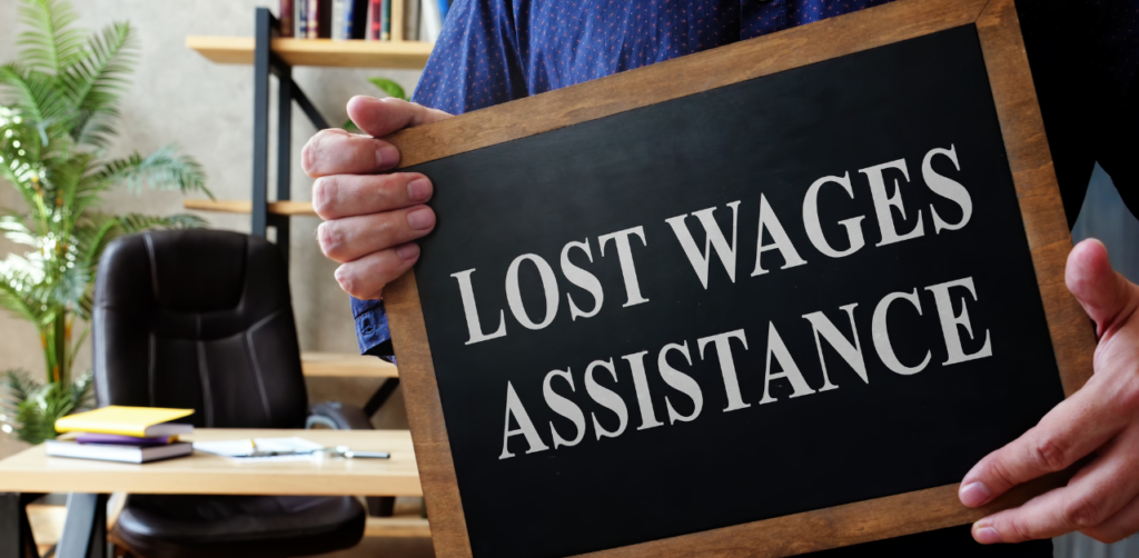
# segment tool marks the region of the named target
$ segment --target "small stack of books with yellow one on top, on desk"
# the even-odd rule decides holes
[[[192,409],[104,407],[64,417],[56,432],[77,433],[73,440],[49,440],[52,457],[146,463],[189,456],[194,444],[178,436],[194,433],[194,425],[171,422],[194,415]]]

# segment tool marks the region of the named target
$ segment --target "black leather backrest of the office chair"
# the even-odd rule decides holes
[[[99,262],[100,407],[190,409],[195,426],[301,428],[308,408],[277,247],[216,230],[131,235]]]

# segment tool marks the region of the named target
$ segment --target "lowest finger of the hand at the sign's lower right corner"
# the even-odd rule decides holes
[[[1108,523],[1139,493],[1139,427],[1120,435],[1067,486],[1044,493],[1019,508],[977,522],[974,538],[982,543],[1048,539]],[[1121,522],[1132,514],[1128,510]],[[1116,531],[1108,525],[1105,527]]]

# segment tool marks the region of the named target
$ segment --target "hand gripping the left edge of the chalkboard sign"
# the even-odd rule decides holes
[[[423,205],[432,183],[423,174],[379,174],[400,163],[400,151],[382,138],[451,115],[400,99],[353,97],[349,117],[366,134],[321,130],[301,151],[312,184],[312,207],[323,219],[320,249],[341,263],[336,282],[357,298],[379,298],[384,286],[419,259],[415,239],[435,228]]]

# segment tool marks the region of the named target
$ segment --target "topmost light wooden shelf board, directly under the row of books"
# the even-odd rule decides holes
[[[189,35],[186,46],[218,64],[253,64],[252,36]],[[435,46],[421,41],[273,39],[272,49],[290,66],[421,69]]]

